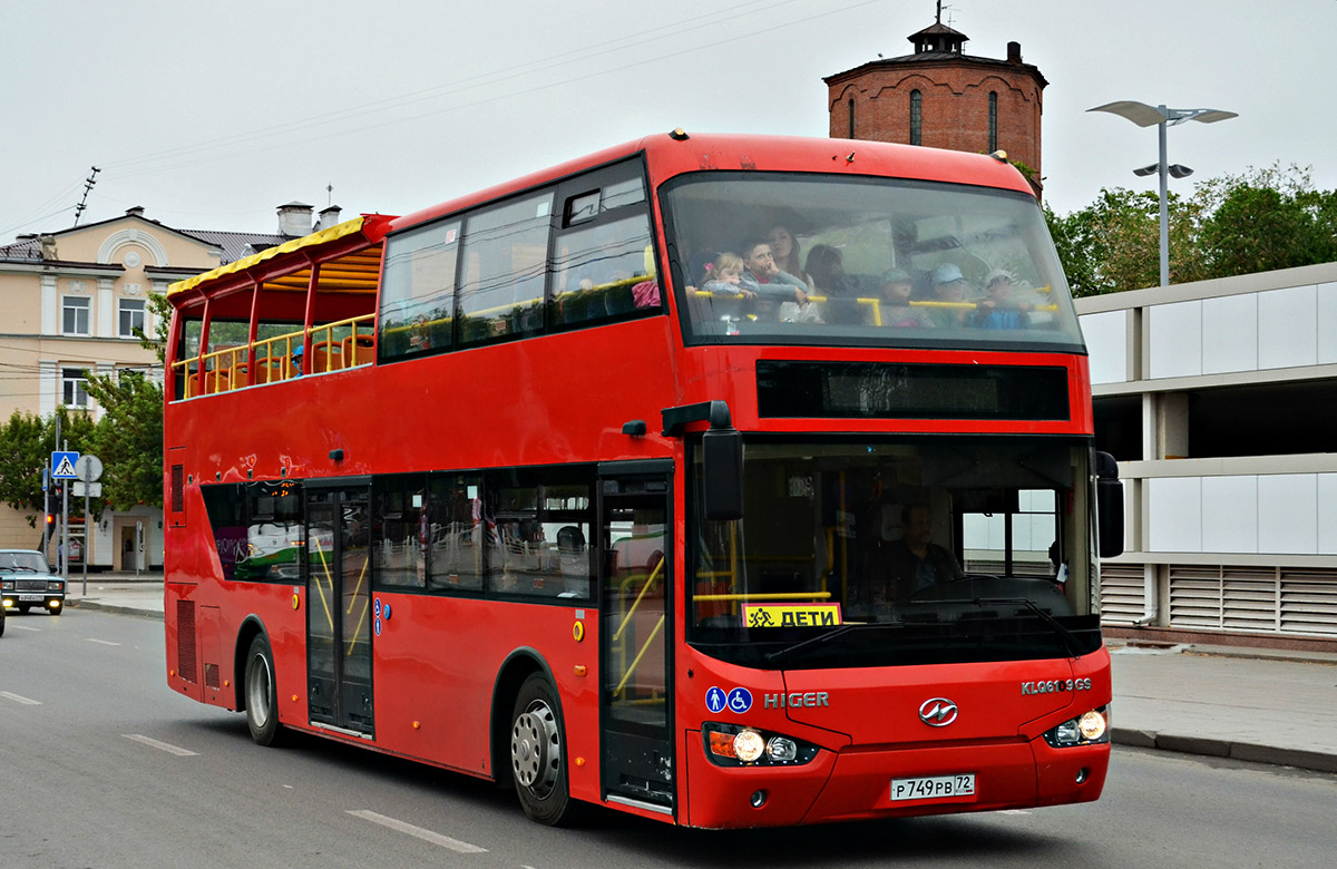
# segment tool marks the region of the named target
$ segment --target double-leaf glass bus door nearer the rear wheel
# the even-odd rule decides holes
[[[313,725],[370,737],[368,485],[309,480],[305,491],[308,714]]]

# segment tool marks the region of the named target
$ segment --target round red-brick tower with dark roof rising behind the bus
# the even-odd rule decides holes
[[[963,53],[965,33],[937,20],[908,36],[915,53],[881,57],[822,79],[830,135],[991,154],[1019,163],[1040,193],[1040,94],[1048,82],[1021,63],[1021,44],[1007,59]],[[1029,170],[1029,172],[1027,171]]]

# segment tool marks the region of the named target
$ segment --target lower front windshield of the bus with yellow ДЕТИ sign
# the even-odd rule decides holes
[[[749,443],[742,520],[698,492],[689,642],[771,668],[1087,654],[1088,493],[1082,444]]]

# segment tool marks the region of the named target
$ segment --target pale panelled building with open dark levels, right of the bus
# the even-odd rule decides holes
[[[1119,460],[1114,635],[1337,643],[1337,263],[1076,301]]]

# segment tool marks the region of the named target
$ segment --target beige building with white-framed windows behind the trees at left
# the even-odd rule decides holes
[[[146,370],[160,381],[158,358],[135,337],[136,329],[154,334],[150,297],[312,231],[312,206],[293,202],[278,213],[279,233],[273,235],[178,230],[134,207],[110,221],[0,245],[0,420],[16,410],[47,417],[57,405],[96,418],[100,409],[84,389],[86,372]],[[325,223],[337,219],[338,209],[321,213]],[[40,537],[25,513],[0,505],[0,547],[33,548]],[[162,511],[107,511],[91,545],[92,567],[162,564]]]

